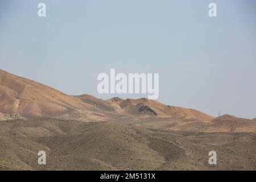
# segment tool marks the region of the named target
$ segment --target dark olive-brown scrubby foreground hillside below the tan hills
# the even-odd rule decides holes
[[[118,122],[0,122],[0,170],[255,170],[256,134],[143,129]],[[39,166],[38,151],[46,151]],[[208,153],[217,152],[217,166]]]

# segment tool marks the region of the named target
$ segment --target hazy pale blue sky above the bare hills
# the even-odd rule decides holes
[[[1,0],[0,69],[102,99],[145,96],[99,94],[100,73],[159,73],[163,104],[252,119],[255,19],[254,0]]]

